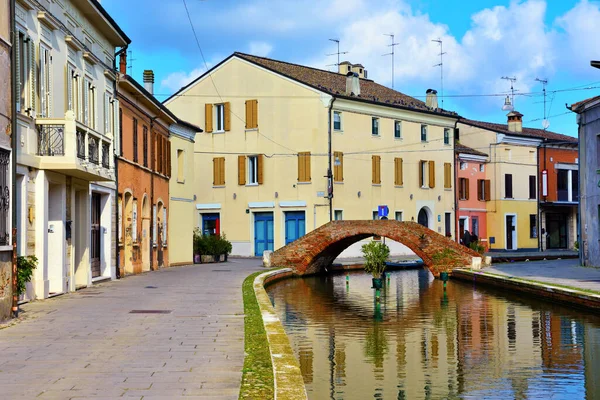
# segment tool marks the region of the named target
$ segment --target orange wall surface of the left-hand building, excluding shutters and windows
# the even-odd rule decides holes
[[[150,129],[150,118],[142,110],[129,104],[124,99],[121,99],[122,109],[122,152],[123,156],[118,161],[119,169],[119,198],[122,201],[123,209],[123,224],[122,224],[122,238],[123,242],[120,243],[119,248],[119,265],[121,274],[126,273],[125,266],[128,262],[131,263],[131,268],[128,273],[140,273],[143,271],[143,259],[142,249],[149,248],[152,241],[152,206],[162,202],[164,207],[169,210],[169,179],[168,176],[156,172],[156,148],[152,148],[152,137],[161,138],[168,142],[168,130],[165,126],[162,126],[160,120],[157,120]],[[138,120],[138,162],[133,162],[133,118]],[[143,166],[143,127],[148,127],[148,167]],[[154,160],[154,162],[153,162]],[[152,169],[154,166],[154,170]],[[126,204],[125,204],[125,193],[131,192],[133,199],[137,200],[137,244],[132,246],[131,254],[126,254],[125,242],[126,242],[126,230],[128,226],[131,226],[131,217],[127,215]],[[144,196],[147,196],[148,201],[148,213],[144,214]],[[158,210],[158,207],[157,207]],[[149,224],[146,231],[144,232],[144,219],[149,219]],[[162,213],[157,217],[157,223],[162,220]],[[158,231],[158,229],[157,229]],[[150,252],[150,269],[155,270],[159,268],[158,264],[158,251],[163,252],[163,265],[169,266],[168,257],[168,243],[167,247],[162,247],[162,242],[158,239],[155,240],[157,246],[152,248]],[[146,247],[148,246],[148,247]],[[126,260],[129,258],[130,260]],[[131,271],[132,269],[132,271]]]

